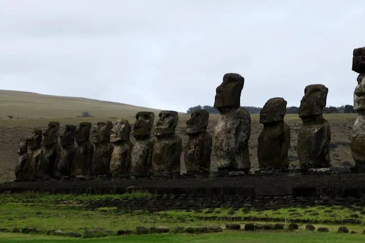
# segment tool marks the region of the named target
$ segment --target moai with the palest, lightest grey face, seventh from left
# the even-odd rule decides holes
[[[129,140],[128,120],[120,119],[111,129],[110,142],[114,145],[110,159],[110,172],[113,177],[130,174],[130,154],[133,144]]]

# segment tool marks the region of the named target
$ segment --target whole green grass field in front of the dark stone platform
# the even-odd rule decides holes
[[[329,233],[309,232],[306,224],[298,224],[299,230],[289,231],[287,228],[293,218],[313,220],[347,219],[357,214],[364,221],[364,208],[342,207],[307,207],[281,208],[278,210],[257,211],[255,209],[238,209],[234,215],[228,213],[230,208],[215,208],[214,212],[170,210],[149,212],[148,210],[128,211],[116,207],[90,208],[90,202],[110,200],[125,200],[138,197],[150,197],[146,192],[133,192],[123,195],[67,195],[67,194],[2,194],[0,197],[0,228],[12,231],[15,228],[35,228],[38,233],[9,233],[0,232],[0,242],[365,242],[365,229],[361,225],[345,225],[349,231],[357,234],[339,234],[341,225],[313,224],[329,228]],[[232,223],[224,220],[204,220],[203,216],[265,216],[281,219],[284,229],[280,231],[256,230],[226,230],[225,225]],[[247,223],[275,224],[278,222],[234,222],[242,227]],[[185,234],[165,233],[136,235],[136,226],[168,226],[170,232],[177,227],[221,226],[224,230],[219,233]],[[108,236],[103,238],[70,238],[66,236],[47,235],[57,229],[63,232],[77,231],[83,234],[84,227],[103,227],[108,230]],[[117,236],[117,231],[130,230],[131,235]],[[96,235],[97,236],[97,235]],[[90,236],[89,236],[90,237]],[[93,237],[93,236],[92,236]]]

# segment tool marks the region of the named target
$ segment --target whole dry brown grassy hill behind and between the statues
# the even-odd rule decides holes
[[[128,119],[134,123],[135,114],[138,111],[155,112],[157,122],[158,110],[138,107],[128,104],[111,103],[105,101],[90,100],[85,98],[59,97],[41,95],[28,92],[0,90],[0,182],[15,179],[14,169],[18,162],[18,143],[20,138],[27,137],[35,127],[46,129],[49,121],[59,121],[62,133],[66,124],[77,125],[81,121],[90,121],[96,126],[98,121],[117,121],[118,118]],[[89,111],[93,117],[82,118],[82,111]],[[8,115],[15,119],[7,119]],[[331,124],[331,163],[336,167],[353,164],[350,150],[351,128],[357,114],[326,114],[324,117]],[[22,118],[17,118],[22,117]],[[183,145],[188,137],[185,134],[185,122],[188,114],[179,114],[179,124],[176,133],[182,137]],[[219,115],[211,115],[207,131],[213,136],[214,127]],[[252,170],[257,167],[257,138],[262,130],[262,124],[258,122],[258,115],[251,115],[251,137],[249,141],[250,159]],[[296,143],[301,120],[298,115],[285,116],[285,121],[291,127],[291,147],[289,159],[292,167],[299,165],[296,155]],[[132,142],[133,136],[131,136]],[[183,161],[183,155],[182,155]],[[212,169],[215,168],[215,157],[212,155]]]

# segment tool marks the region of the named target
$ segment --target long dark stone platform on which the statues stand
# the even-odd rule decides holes
[[[246,174],[229,177],[72,179],[8,182],[0,193],[25,191],[48,193],[121,194],[133,190],[152,194],[187,196],[293,196],[318,198],[365,197],[365,173],[358,174]]]

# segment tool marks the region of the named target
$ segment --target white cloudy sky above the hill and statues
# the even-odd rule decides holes
[[[0,89],[185,111],[237,72],[241,105],[352,104],[364,23],[364,0],[0,0]]]

